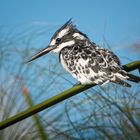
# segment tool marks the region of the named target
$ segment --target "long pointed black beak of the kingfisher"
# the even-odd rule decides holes
[[[51,50],[55,49],[55,46],[48,46],[47,48],[39,51],[37,54],[33,55],[29,60],[26,61],[26,63],[29,63],[47,53],[49,53]]]

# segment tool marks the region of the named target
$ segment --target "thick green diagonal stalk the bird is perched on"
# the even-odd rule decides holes
[[[140,61],[134,61],[134,62],[128,63],[128,64],[124,65],[123,68],[128,72],[135,70],[135,69],[140,69]],[[50,98],[40,104],[30,107],[29,109],[15,115],[13,117],[10,117],[7,120],[4,120],[3,122],[0,123],[0,130],[2,130],[8,126],[11,126],[19,121],[22,121],[22,120],[34,115],[35,113],[38,113],[44,109],[47,109],[63,100],[66,100],[82,91],[85,91],[93,86],[95,86],[95,85],[86,85],[86,86],[85,85],[76,85],[66,91],[63,91],[63,92],[59,93],[58,95],[53,96],[52,98]]]

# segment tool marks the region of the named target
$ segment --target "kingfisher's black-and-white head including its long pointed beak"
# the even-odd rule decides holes
[[[77,41],[85,41],[87,39],[87,36],[80,32],[70,19],[54,33],[49,45],[33,55],[27,62],[31,62],[49,52],[59,53],[64,47],[71,47]]]

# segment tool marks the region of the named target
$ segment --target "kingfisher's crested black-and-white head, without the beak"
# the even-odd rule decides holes
[[[73,24],[72,20],[68,20],[60,27],[52,36],[49,46],[55,46],[52,52],[60,52],[64,47],[70,47],[77,40],[86,40],[87,36],[80,32]]]

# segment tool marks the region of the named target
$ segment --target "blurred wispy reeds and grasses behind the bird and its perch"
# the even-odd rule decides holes
[[[76,83],[61,67],[58,56],[48,54],[24,64],[47,45],[44,38],[52,31],[51,26],[16,26],[9,32],[0,27],[0,121]],[[107,43],[106,47],[111,49]],[[132,88],[93,87],[1,130],[0,140],[138,140],[140,85],[131,84]]]

